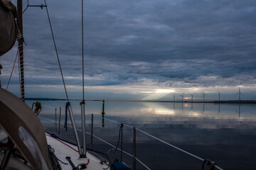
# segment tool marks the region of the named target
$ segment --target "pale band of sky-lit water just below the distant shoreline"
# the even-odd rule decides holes
[[[31,106],[33,101],[27,101]],[[42,101],[43,113],[54,113],[54,108],[65,108],[65,101]],[[79,102],[71,102],[73,112],[80,114]],[[106,115],[128,116],[183,116],[216,119],[256,120],[256,105],[224,103],[169,103],[169,102],[113,102],[105,103]],[[101,114],[102,103],[87,101],[86,114]]]

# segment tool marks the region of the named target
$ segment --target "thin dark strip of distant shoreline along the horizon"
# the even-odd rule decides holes
[[[67,101],[65,98],[25,98],[27,101]],[[70,99],[70,101],[82,101],[81,99]],[[85,101],[102,101],[91,99]],[[106,101],[106,100],[105,100]],[[256,101],[139,101],[139,100],[110,100],[110,101],[129,101],[129,102],[163,102],[163,103],[233,103],[233,104],[256,104]]]

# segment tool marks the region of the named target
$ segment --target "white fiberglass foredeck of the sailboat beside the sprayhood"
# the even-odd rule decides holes
[[[55,152],[54,152],[55,156],[58,159],[60,159],[62,162],[68,163],[68,164],[63,164],[59,162],[63,170],[72,169],[72,166],[69,164],[66,157],[70,157],[75,166],[78,166],[78,164],[87,164],[89,159],[89,163],[87,164],[88,170],[91,170],[91,169],[100,170],[100,169],[107,168],[106,164],[100,164],[100,159],[97,159],[97,157],[93,156],[88,152],[86,153],[87,158],[80,159],[77,151],[78,148],[75,145],[71,145],[68,142],[63,142],[62,140],[55,139],[54,137],[50,137],[47,134],[46,134],[46,139],[47,139],[48,145],[50,145],[53,149],[55,149]]]

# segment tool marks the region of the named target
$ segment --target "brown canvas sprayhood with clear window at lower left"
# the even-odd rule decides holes
[[[0,127],[34,170],[51,169],[46,135],[40,120],[20,98],[1,88]]]

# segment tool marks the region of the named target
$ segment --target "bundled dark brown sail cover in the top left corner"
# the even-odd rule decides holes
[[[16,6],[9,0],[0,0],[0,56],[11,50],[18,34]]]

